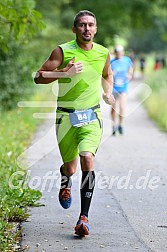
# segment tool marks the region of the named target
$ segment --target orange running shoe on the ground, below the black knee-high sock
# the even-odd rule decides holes
[[[89,234],[88,218],[85,215],[80,216],[75,227],[75,234],[82,237],[85,237],[85,235]]]

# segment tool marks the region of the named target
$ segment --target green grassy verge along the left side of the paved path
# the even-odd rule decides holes
[[[39,85],[32,101],[53,100],[51,85]],[[1,112],[0,124],[0,251],[18,251],[20,230],[17,223],[28,218],[26,207],[40,206],[41,192],[23,188],[25,175],[17,176],[13,184],[23,181],[18,189],[10,187],[11,175],[20,171],[17,157],[29,145],[34,131],[41,120],[35,120],[33,113],[48,112],[49,108],[17,108]],[[23,173],[24,174],[24,173]]]

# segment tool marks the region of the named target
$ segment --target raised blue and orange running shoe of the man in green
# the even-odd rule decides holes
[[[59,202],[64,209],[68,209],[72,203],[71,188],[60,189]]]

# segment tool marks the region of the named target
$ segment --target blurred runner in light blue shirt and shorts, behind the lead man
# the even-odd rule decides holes
[[[114,76],[113,95],[115,98],[115,104],[112,106],[111,109],[111,116],[113,121],[113,135],[115,135],[117,131],[119,132],[119,134],[123,134],[123,119],[125,116],[128,84],[133,76],[133,63],[129,57],[124,56],[125,53],[123,46],[116,46],[114,53],[115,57],[110,61],[111,69],[113,71]],[[117,107],[119,110],[118,113]],[[118,120],[117,115],[119,115]]]

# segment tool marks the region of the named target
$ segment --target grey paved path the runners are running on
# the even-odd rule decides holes
[[[104,134],[95,159],[89,237],[77,238],[73,232],[80,209],[80,168],[73,177],[73,204],[64,210],[57,197],[61,158],[54,122],[41,125],[27,153],[30,185],[43,192],[45,206],[31,209],[31,220],[23,223],[28,251],[167,251],[167,135],[138,103],[141,87],[149,96],[146,85],[133,81],[123,136],[111,136],[110,108],[102,103]]]

